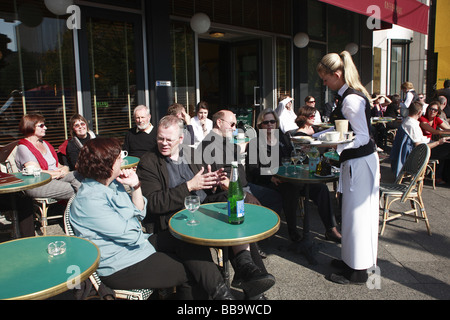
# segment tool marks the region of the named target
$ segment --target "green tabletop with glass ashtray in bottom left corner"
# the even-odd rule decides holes
[[[64,241],[66,252],[50,256],[47,245]],[[69,236],[30,237],[0,244],[0,299],[46,299],[68,290],[68,281],[86,280],[98,267],[92,242]]]

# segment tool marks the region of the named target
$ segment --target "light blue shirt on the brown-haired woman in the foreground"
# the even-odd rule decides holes
[[[99,247],[100,276],[111,275],[155,253],[148,241],[150,235],[141,228],[145,214],[146,209],[138,210],[119,182],[105,186],[93,179],[83,181],[70,208],[70,223],[75,235]]]

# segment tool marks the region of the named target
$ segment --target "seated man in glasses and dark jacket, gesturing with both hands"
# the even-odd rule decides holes
[[[148,199],[147,211],[159,216],[155,219],[156,233],[167,229],[170,216],[184,208],[184,198],[190,194],[200,196],[203,203],[227,199],[227,193],[217,188],[223,170],[212,172],[209,166],[205,170],[201,164],[189,161],[181,148],[183,139],[182,121],[165,116],[158,126],[156,151],[145,154],[137,168],[143,194]],[[249,244],[232,247],[230,253],[234,255],[231,261],[247,296],[259,296],[274,285],[274,277],[261,269],[262,261],[258,261],[259,267],[255,265]]]

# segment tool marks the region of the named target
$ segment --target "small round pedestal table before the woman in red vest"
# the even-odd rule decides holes
[[[11,174],[14,175],[16,178],[21,179],[22,182],[3,185],[3,186],[0,185],[0,194],[4,194],[4,193],[11,194],[11,203],[13,206],[12,224],[13,224],[14,238],[20,238],[20,230],[19,230],[19,223],[18,223],[17,209],[16,209],[17,198],[15,197],[15,194],[20,191],[43,186],[44,184],[47,184],[50,181],[52,181],[52,176],[49,173],[45,173],[45,172],[41,172],[41,174],[36,177],[34,175],[24,175],[22,172],[14,172]]]

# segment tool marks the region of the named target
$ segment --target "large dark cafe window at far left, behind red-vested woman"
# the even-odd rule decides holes
[[[22,138],[25,113],[45,117],[45,140],[55,148],[67,137],[76,112],[73,34],[66,17],[44,1],[0,4],[0,144]]]

